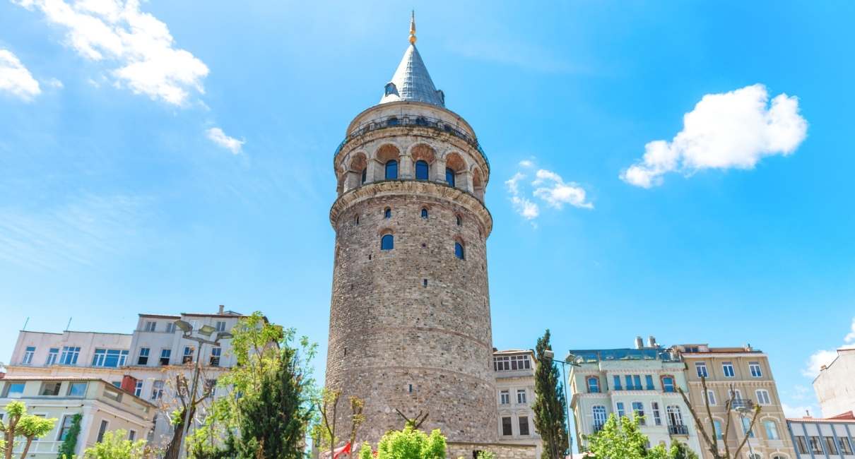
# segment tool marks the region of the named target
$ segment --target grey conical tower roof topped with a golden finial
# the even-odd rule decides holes
[[[380,103],[398,101],[432,103],[445,107],[445,95],[433,85],[428,68],[416,49],[415,18],[410,20],[410,47],[404,51],[398,70],[395,70],[392,80],[386,83],[386,91],[380,97]]]

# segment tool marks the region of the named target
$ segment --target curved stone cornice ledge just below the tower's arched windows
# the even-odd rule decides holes
[[[361,203],[374,197],[401,195],[443,199],[449,203],[463,206],[478,216],[485,239],[492,232],[492,215],[486,209],[484,203],[481,203],[481,200],[475,197],[475,195],[449,185],[413,179],[382,180],[347,191],[339,196],[335,200],[335,203],[333,203],[333,207],[329,209],[329,222],[333,226],[333,229],[336,229],[336,224],[341,214],[353,204]]]

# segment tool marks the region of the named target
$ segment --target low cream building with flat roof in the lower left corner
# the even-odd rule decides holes
[[[103,434],[124,430],[130,439],[146,438],[154,428],[156,405],[97,378],[50,376],[16,377],[0,380],[0,410],[19,400],[31,415],[55,418],[50,433],[33,441],[29,457],[56,458],[74,415],[81,415],[75,453],[96,444]],[[20,453],[23,444],[15,452]]]

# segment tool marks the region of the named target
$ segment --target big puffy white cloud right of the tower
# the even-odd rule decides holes
[[[622,171],[630,185],[661,185],[669,172],[693,174],[702,169],[751,169],[764,157],[787,156],[805,140],[807,121],[799,99],[772,98],[764,85],[723,94],[707,94],[683,116],[683,130],[671,139],[645,145],[639,162]]]

